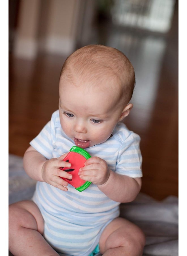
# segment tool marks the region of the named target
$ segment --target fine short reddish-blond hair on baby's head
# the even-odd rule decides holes
[[[114,90],[119,88],[123,105],[129,102],[135,87],[134,68],[126,55],[116,48],[103,45],[88,45],[73,52],[63,64],[60,78],[62,75],[72,82],[76,75],[88,78],[98,86],[106,79],[115,79]]]

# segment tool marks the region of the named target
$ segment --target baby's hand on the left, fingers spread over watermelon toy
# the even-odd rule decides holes
[[[58,158],[52,158],[47,160],[42,166],[42,179],[44,182],[57,187],[63,191],[67,191],[67,181],[61,179],[60,177],[71,179],[72,175],[68,172],[60,170],[60,167],[71,167],[71,163],[63,161],[67,154],[64,154]],[[59,177],[60,176],[60,177]]]

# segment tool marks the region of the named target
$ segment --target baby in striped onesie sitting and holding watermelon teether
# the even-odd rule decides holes
[[[12,254],[142,255],[143,232],[119,217],[120,203],[141,189],[140,138],[120,122],[133,107],[134,86],[134,69],[115,48],[88,45],[66,59],[59,110],[24,154],[35,193],[9,207]],[[82,192],[60,178],[72,178],[59,168],[71,167],[63,159],[73,145],[92,156],[78,172],[92,182]]]

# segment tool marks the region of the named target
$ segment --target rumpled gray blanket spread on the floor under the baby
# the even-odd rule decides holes
[[[30,199],[35,189],[23,169],[23,159],[9,154],[9,204]],[[178,197],[156,201],[139,193],[135,201],[121,204],[121,217],[139,226],[146,235],[143,255],[178,255]],[[9,254],[10,255],[10,254]]]

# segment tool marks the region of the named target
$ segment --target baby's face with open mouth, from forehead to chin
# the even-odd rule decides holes
[[[112,90],[77,86],[69,80],[60,81],[61,127],[81,148],[103,143],[111,136],[122,112],[117,103],[118,96]]]

